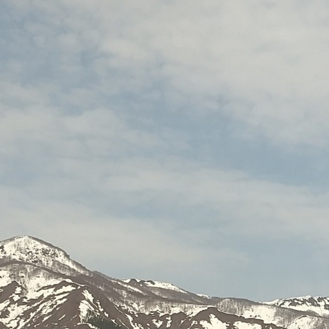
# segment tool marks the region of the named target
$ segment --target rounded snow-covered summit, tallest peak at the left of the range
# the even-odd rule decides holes
[[[65,275],[89,273],[82,265],[72,261],[63,249],[29,235],[14,236],[0,242],[0,263],[13,261],[29,263]]]

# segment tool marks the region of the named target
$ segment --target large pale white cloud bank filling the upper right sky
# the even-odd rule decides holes
[[[34,2],[30,8],[61,21],[58,28],[66,30],[55,41],[59,51],[93,52],[101,90],[138,94],[161,81],[176,106],[220,111],[243,123],[242,136],[260,134],[279,145],[327,144],[323,2],[61,6]]]

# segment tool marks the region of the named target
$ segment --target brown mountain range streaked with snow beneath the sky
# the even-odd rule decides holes
[[[258,303],[200,296],[170,283],[89,271],[34,237],[0,242],[0,329],[95,328],[88,312],[128,329],[329,329],[329,298]]]

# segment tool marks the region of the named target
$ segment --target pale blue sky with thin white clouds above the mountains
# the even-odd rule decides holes
[[[4,0],[0,29],[0,240],[329,295],[327,1]]]

